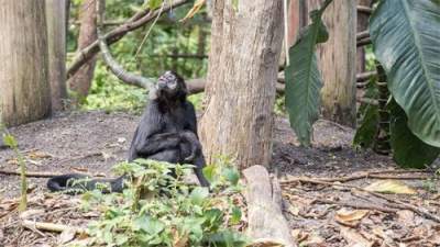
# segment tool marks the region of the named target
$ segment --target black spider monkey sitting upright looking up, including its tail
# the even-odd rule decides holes
[[[129,161],[136,158],[154,159],[172,164],[195,165],[196,176],[204,187],[209,187],[202,173],[205,157],[197,136],[197,119],[194,105],[187,101],[184,79],[174,71],[166,71],[158,78],[156,87],[150,92],[150,103],[134,132],[129,151]],[[78,184],[73,180],[84,180]],[[124,176],[116,179],[92,179],[79,173],[62,175],[51,178],[51,191],[74,189],[92,190],[97,183],[107,183],[103,192],[122,192]]]

